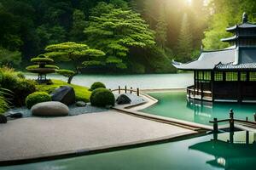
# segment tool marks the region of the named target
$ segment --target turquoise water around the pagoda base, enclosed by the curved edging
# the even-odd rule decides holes
[[[248,117],[251,121],[254,120],[253,113],[256,112],[255,104],[189,102],[186,92],[152,93],[149,95],[159,99],[159,103],[148,107],[143,112],[207,125],[215,117],[218,119],[229,118],[230,109],[234,110],[235,118],[245,120]]]

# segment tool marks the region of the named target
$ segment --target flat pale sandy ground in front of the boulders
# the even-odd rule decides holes
[[[189,133],[195,132],[117,111],[55,118],[28,117],[0,125],[0,161],[139,144]]]

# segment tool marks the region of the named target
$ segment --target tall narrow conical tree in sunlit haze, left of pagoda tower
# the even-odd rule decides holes
[[[188,15],[183,14],[181,29],[177,40],[177,61],[188,62],[191,59],[192,50],[193,42]]]

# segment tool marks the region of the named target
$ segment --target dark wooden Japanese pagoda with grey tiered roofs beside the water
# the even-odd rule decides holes
[[[223,102],[256,102],[256,25],[248,22],[226,29],[233,37],[223,38],[230,48],[202,51],[198,59],[177,69],[194,71],[194,85],[187,88],[189,99]]]

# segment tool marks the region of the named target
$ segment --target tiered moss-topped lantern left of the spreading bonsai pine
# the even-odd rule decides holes
[[[35,65],[26,67],[26,70],[32,73],[38,73],[38,82],[47,82],[46,75],[54,73],[56,69],[59,69],[56,65],[49,65],[54,62],[53,59],[49,59],[44,54],[38,55],[38,57],[32,58],[31,62]]]

